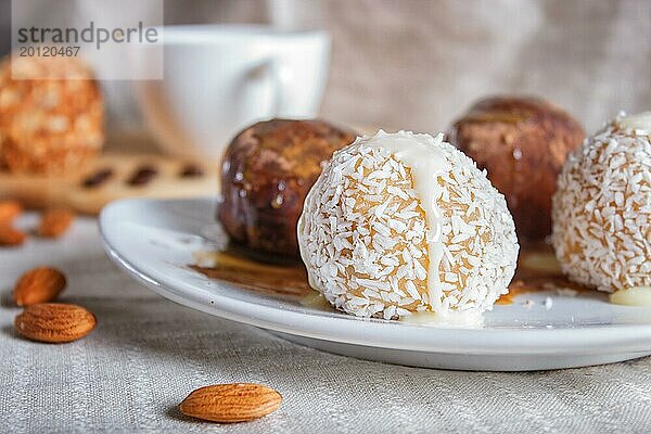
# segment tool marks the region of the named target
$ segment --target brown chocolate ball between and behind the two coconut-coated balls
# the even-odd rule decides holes
[[[505,194],[521,241],[551,233],[551,196],[567,153],[584,140],[582,126],[537,98],[488,98],[458,119],[450,141]]]

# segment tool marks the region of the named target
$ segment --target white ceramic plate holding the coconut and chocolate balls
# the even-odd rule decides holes
[[[182,305],[257,326],[315,348],[408,366],[521,371],[608,363],[651,355],[651,308],[603,294],[533,293],[496,306],[476,330],[358,319],[259,295],[188,268],[215,225],[214,200],[127,200],[100,217],[106,251],[131,276]],[[553,306],[545,308],[551,296]],[[525,299],[535,305],[524,306]]]

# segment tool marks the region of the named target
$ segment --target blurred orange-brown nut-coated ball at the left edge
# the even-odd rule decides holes
[[[12,173],[78,170],[102,148],[103,119],[101,90],[80,60],[14,55],[0,63],[0,162]]]

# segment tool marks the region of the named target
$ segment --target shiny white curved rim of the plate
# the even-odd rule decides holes
[[[194,290],[192,283],[175,282],[164,272],[143,271],[116,247],[111,232],[112,217],[123,207],[145,203],[216,203],[215,196],[191,199],[125,199],[107,204],[100,214],[99,232],[107,255],[140,283],[157,294],[187,307],[241,323],[294,334],[310,339],[332,341],[353,345],[379,348],[401,349],[424,353],[458,355],[600,355],[604,353],[651,352],[651,324],[604,324],[578,328],[554,329],[457,329],[434,328],[416,324],[395,323],[381,319],[357,317],[319,316],[309,312],[283,310],[281,308],[255,304],[256,315],[251,314],[246,301],[214,294],[204,297]],[[196,234],[194,234],[196,235]],[[214,280],[219,286],[237,289],[234,284]],[[279,315],[281,314],[281,315]],[[282,318],[282,321],[279,321]],[[305,321],[312,318],[314,321]],[[352,322],[355,321],[355,322]],[[346,326],[342,326],[345,323]],[[354,333],[345,331],[348,324],[358,326]],[[393,328],[393,329],[392,329]],[[400,332],[398,332],[398,330]],[[411,331],[418,339],[399,339],[399,334]],[[425,334],[433,334],[424,339]],[[500,344],[505,340],[509,344]],[[472,342],[469,344],[468,342]],[[513,344],[516,342],[518,344]],[[533,342],[533,343],[532,343]],[[465,343],[464,345],[460,345]]]

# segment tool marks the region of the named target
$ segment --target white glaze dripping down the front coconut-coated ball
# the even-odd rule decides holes
[[[438,270],[443,259],[442,213],[436,201],[443,194],[437,177],[449,170],[448,162],[437,145],[443,142],[443,132],[435,138],[430,135],[414,135],[405,131],[386,133],[383,130],[368,139],[369,148],[383,148],[396,159],[411,169],[413,188],[419,193],[421,207],[425,212],[429,226],[426,241],[430,254],[427,290],[430,303],[441,301]]]

